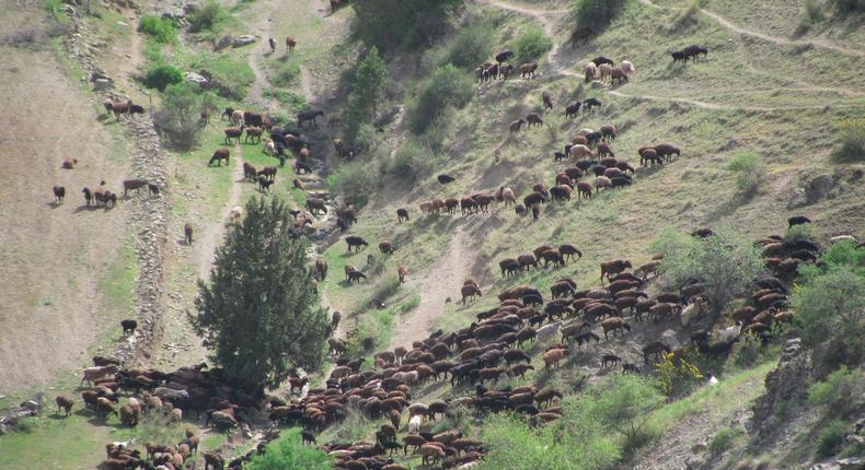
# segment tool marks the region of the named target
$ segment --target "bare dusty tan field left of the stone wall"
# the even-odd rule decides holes
[[[26,11],[5,10],[0,31],[36,27]],[[105,298],[105,278],[125,240],[124,204],[84,205],[81,188],[116,190],[126,162],[88,96],[42,50],[0,46],[0,395],[44,383],[83,360],[123,312]],[[61,169],[65,157],[78,166]],[[51,187],[66,187],[53,203]],[[112,305],[113,304],[113,305]]]

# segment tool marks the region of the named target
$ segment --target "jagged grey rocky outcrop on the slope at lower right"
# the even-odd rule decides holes
[[[765,377],[765,395],[753,406],[750,422],[751,434],[760,438],[771,434],[780,424],[778,407],[795,407],[807,396],[811,381],[811,352],[801,345],[798,338],[787,340],[778,359],[777,367]]]

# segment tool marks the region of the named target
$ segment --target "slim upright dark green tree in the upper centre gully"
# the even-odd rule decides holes
[[[367,57],[360,62],[355,73],[351,94],[348,96],[348,108],[345,117],[346,139],[354,141],[360,125],[376,117],[378,104],[384,96],[388,81],[388,68],[379,56],[376,46],[369,49]]]

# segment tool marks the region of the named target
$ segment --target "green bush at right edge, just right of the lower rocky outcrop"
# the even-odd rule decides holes
[[[865,406],[862,402],[862,390],[865,390],[865,372],[841,366],[829,374],[824,381],[808,387],[808,400],[826,406],[829,416],[849,416]]]

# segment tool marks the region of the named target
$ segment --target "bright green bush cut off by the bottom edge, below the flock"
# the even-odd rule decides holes
[[[300,428],[282,431],[282,437],[274,440],[263,456],[256,455],[244,466],[249,470],[328,470],[331,457],[315,446],[304,446]]]

